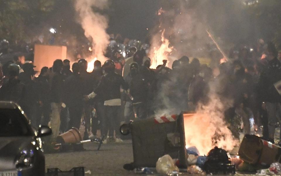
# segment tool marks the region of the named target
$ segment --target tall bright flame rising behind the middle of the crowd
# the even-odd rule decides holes
[[[172,52],[174,47],[169,47],[169,40],[164,37],[165,29],[161,34],[161,45],[159,46],[159,41],[153,39],[153,49],[150,51],[149,56],[151,58],[150,68],[156,68],[157,65],[162,65],[162,60],[168,60],[168,55]],[[169,63],[169,60],[167,64]]]

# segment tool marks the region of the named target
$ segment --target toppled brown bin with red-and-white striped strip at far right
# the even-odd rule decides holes
[[[280,162],[281,148],[255,135],[245,135],[240,145],[239,157],[251,164],[268,166]]]

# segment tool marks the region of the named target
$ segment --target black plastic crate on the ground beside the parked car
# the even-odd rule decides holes
[[[84,167],[73,167],[69,171],[61,171],[59,168],[47,169],[47,176],[85,176]]]

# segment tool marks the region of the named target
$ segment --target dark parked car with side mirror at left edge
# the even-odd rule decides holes
[[[16,103],[0,101],[0,176],[44,176],[41,137],[51,133],[47,126],[32,128]]]

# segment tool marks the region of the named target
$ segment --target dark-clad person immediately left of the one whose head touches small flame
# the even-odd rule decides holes
[[[83,111],[82,78],[79,75],[79,64],[73,63],[73,74],[65,80],[65,104],[69,110],[69,126],[71,129],[80,128],[81,116]]]

